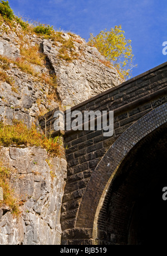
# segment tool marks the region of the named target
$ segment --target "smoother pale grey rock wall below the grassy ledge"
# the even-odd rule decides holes
[[[37,147],[1,148],[4,165],[11,167],[11,186],[23,203],[14,217],[0,208],[0,244],[60,244],[60,213],[66,179],[66,160],[50,158]]]

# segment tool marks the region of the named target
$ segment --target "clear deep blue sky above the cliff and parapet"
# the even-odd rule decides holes
[[[132,77],[167,61],[167,0],[8,0],[15,15],[71,31],[88,41],[121,25],[131,40],[137,68]]]

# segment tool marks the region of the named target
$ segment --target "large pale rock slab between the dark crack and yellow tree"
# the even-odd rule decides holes
[[[63,36],[69,35],[63,34]],[[48,56],[57,75],[57,91],[62,106],[75,106],[120,83],[116,69],[108,68],[101,63],[105,58],[95,47],[87,45],[78,36],[74,37],[73,43],[75,46],[73,50],[78,57],[68,63],[55,58],[59,46],[53,45],[51,40],[43,40],[43,52]]]

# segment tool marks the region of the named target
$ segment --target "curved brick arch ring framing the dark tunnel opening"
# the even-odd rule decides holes
[[[104,204],[107,192],[119,172],[122,162],[130,151],[139,145],[147,136],[161,127],[166,128],[167,108],[166,103],[149,112],[135,124],[131,125],[111,145],[110,149],[97,165],[91,179],[87,184],[84,196],[78,210],[76,228],[89,229],[92,239],[97,239],[97,222],[101,207]],[[104,175],[105,173],[105,175]]]

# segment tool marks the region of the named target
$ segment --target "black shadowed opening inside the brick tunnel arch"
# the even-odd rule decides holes
[[[98,244],[165,244],[166,125],[137,143],[112,179],[97,220]]]

